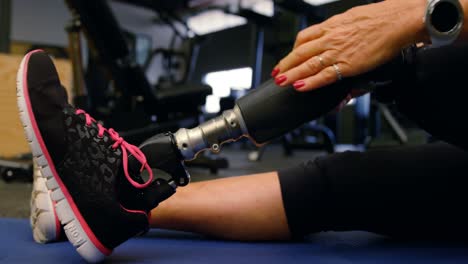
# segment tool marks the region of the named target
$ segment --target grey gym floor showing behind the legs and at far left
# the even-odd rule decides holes
[[[249,161],[251,151],[239,145],[226,146],[219,157],[228,160],[229,167],[220,169],[212,174],[208,169],[189,167],[192,181],[209,180],[221,177],[231,177],[260,172],[268,172],[284,167],[294,166],[300,162],[313,159],[317,155],[325,155],[319,151],[295,150],[292,156],[285,156],[279,145],[267,147],[260,161]],[[29,217],[29,199],[32,184],[26,182],[5,183],[0,180],[0,217],[27,218]]]

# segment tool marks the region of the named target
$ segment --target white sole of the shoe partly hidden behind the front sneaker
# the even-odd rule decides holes
[[[34,161],[34,182],[31,191],[30,222],[34,241],[40,244],[55,242],[60,238],[61,225],[50,199],[45,177]]]

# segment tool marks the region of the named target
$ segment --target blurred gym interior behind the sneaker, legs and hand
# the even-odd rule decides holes
[[[29,215],[33,170],[15,96],[28,51],[49,52],[70,102],[138,145],[231,109],[270,78],[300,30],[370,2],[0,0],[0,217]],[[428,140],[368,94],[261,148],[240,140],[186,165],[197,181]]]

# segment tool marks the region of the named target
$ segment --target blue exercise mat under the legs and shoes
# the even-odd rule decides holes
[[[0,263],[84,263],[68,242],[36,244],[25,219],[0,218]],[[402,242],[366,232],[327,232],[304,242],[242,243],[151,230],[106,263],[468,263],[468,245]]]

